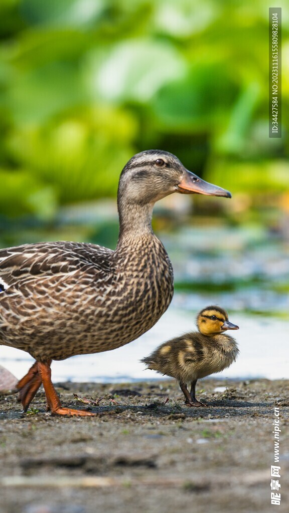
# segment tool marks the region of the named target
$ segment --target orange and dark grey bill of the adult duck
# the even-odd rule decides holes
[[[176,192],[181,194],[205,194],[206,196],[223,196],[224,198],[231,198],[231,193],[218,187],[218,185],[205,182],[196,174],[185,169],[182,180],[179,182]]]

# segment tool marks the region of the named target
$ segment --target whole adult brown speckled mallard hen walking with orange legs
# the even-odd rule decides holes
[[[36,360],[18,384],[24,410],[43,383],[52,413],[93,415],[62,407],[51,382],[51,360],[128,344],[166,311],[173,271],[151,219],[154,203],[173,192],[230,198],[171,153],[143,151],[120,175],[115,251],[75,242],[0,251],[0,344]]]

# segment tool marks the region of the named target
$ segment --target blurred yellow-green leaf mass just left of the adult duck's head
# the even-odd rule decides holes
[[[136,128],[129,113],[103,107],[20,127],[8,147],[20,165],[30,165],[31,176],[57,188],[61,202],[91,199],[116,193]]]

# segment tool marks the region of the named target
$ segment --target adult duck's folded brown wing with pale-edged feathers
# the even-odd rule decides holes
[[[102,246],[75,242],[24,244],[0,250],[0,292],[30,280],[69,275],[76,271],[111,272],[113,251]]]

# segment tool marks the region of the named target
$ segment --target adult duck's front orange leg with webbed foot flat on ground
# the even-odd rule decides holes
[[[90,411],[63,408],[61,405],[61,401],[57,395],[56,389],[52,385],[50,364],[37,362],[37,368],[44,386],[47,406],[51,413],[57,413],[57,415],[77,415],[81,417],[95,417],[96,413],[92,413]]]

